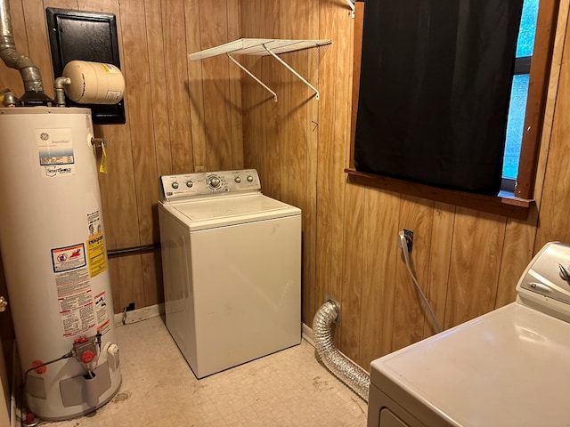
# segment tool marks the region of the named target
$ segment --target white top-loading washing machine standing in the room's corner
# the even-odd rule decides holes
[[[167,328],[202,378],[301,342],[301,211],[256,170],[160,177]]]

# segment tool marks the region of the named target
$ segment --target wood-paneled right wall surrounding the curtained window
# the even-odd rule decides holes
[[[280,100],[275,104],[244,77],[244,153],[266,194],[303,209],[303,321],[311,325],[325,295],[338,300],[335,339],[362,367],[434,333],[396,246],[399,230],[414,232],[413,268],[445,328],[514,301],[533,254],[550,240],[570,243],[570,67],[562,50],[568,2],[562,3],[535,194],[539,208],[520,222],[348,184],[343,170],[350,158],[354,20],[346,2],[242,2],[242,36],[333,42],[283,55],[318,86],[321,101],[272,58],[248,60]]]

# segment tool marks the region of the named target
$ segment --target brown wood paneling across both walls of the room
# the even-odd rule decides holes
[[[312,324],[325,295],[341,302],[336,340],[362,367],[433,333],[396,246],[399,230],[414,231],[414,270],[446,328],[514,301],[533,254],[549,240],[570,243],[562,3],[539,209],[519,222],[346,183],[354,20],[344,0],[10,0],[16,42],[46,86],[53,77],[45,7],[118,17],[127,123],[96,129],[109,141],[110,171],[100,177],[108,247],[158,241],[160,174],[255,167],[265,194],[303,209],[303,321]],[[330,38],[328,47],[282,55],[319,87],[321,100],[273,58],[240,60],[278,93],[277,103],[224,57],[187,60],[241,36]],[[0,87],[22,91],[18,73],[3,64]],[[158,253],[112,259],[110,273],[116,311],[162,301]]]

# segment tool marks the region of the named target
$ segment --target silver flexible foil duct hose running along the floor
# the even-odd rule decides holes
[[[361,367],[337,350],[332,342],[332,323],[338,317],[334,302],[325,302],[313,319],[314,348],[330,372],[368,402],[371,378]]]

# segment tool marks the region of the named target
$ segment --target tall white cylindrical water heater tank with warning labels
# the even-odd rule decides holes
[[[0,109],[0,252],[25,399],[45,420],[121,383],[92,137],[89,109]]]

